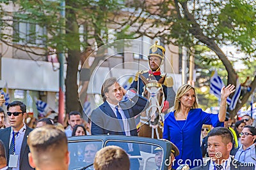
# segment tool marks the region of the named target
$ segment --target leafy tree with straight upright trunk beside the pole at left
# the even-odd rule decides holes
[[[33,60],[36,60],[35,58],[38,56],[40,60],[45,60],[49,53],[52,54],[52,49],[57,55],[64,50],[67,60],[66,112],[81,110],[77,92],[77,72],[79,71],[79,64],[83,65],[80,60],[86,60],[86,57],[92,52],[92,46],[95,42],[97,46],[105,43],[104,40],[108,37],[109,24],[111,24],[108,16],[123,7],[118,2],[122,3],[122,1],[117,0],[66,0],[66,18],[63,25],[60,15],[61,10],[63,10],[60,6],[61,0],[22,0],[15,1],[15,3],[13,1],[1,1],[0,41],[17,50],[27,52]],[[12,7],[13,11],[6,10],[8,5]],[[20,32],[19,23],[29,25],[28,31]],[[38,34],[36,27],[44,30],[44,34]],[[82,27],[83,32],[79,29]],[[65,29],[65,34],[61,34],[61,29]],[[124,37],[125,32],[120,38]],[[39,50],[33,45],[31,46],[31,44],[35,44],[35,41],[31,41],[31,39],[40,41],[39,44],[36,44],[40,47]],[[97,66],[101,59],[104,59],[104,56],[98,55],[90,69],[93,70],[93,67]]]

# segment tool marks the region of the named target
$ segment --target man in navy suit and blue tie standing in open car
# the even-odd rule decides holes
[[[119,134],[138,136],[134,117],[147,105],[147,99],[125,90],[109,78],[101,89],[104,103],[92,111],[92,134]],[[123,96],[129,99],[122,101]]]

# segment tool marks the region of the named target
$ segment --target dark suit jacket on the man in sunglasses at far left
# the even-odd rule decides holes
[[[10,146],[9,143],[10,143],[11,130],[12,130],[11,127],[7,127],[6,129],[0,129],[0,139],[4,143],[6,159],[8,159],[8,155],[9,155],[9,146]],[[27,144],[28,134],[32,130],[33,129],[26,126],[26,132],[24,134],[24,138],[23,138],[23,141],[22,141],[21,149],[20,149],[20,170],[25,170],[25,169],[26,170],[32,170],[32,169],[34,169],[29,165],[29,162],[28,162],[28,153],[30,151],[29,151],[29,147],[28,147],[28,144]]]

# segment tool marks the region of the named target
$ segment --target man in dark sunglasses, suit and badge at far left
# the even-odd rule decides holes
[[[6,148],[8,167],[13,170],[33,169],[28,162],[27,137],[32,129],[24,124],[26,114],[26,105],[20,101],[13,101],[7,106],[11,127],[0,129],[0,139]]]

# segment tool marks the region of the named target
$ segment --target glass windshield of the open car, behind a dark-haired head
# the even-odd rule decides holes
[[[136,143],[133,141],[76,141],[68,143],[70,151],[69,169],[81,169],[93,163],[95,153],[102,146],[120,146],[129,155],[132,170],[161,169],[163,161],[163,149],[160,146],[148,143]],[[93,166],[87,169],[93,169]]]

